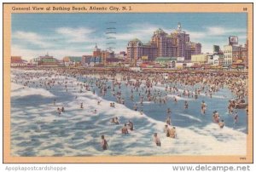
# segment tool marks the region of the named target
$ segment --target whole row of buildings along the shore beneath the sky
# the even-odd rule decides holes
[[[230,36],[222,50],[212,45],[212,53],[203,54],[201,43],[190,41],[189,34],[177,29],[167,34],[162,29],[154,32],[148,43],[134,38],[127,43],[127,53],[115,53],[112,49],[100,49],[98,45],[91,54],[65,56],[57,60],[48,53],[27,62],[20,56],[11,56],[11,66],[82,66],[82,67],[142,67],[170,69],[246,69],[248,66],[248,41],[238,44],[238,37]]]

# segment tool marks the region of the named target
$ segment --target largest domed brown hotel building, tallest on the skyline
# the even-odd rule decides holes
[[[148,56],[148,60],[156,57],[184,57],[185,60],[191,60],[192,54],[201,54],[201,43],[191,43],[189,34],[182,30],[180,23],[171,34],[158,29],[149,43],[143,44],[134,39],[127,46],[127,57],[130,60],[140,59],[142,56]]]

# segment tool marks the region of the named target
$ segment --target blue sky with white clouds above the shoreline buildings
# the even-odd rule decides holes
[[[47,53],[57,59],[92,54],[96,43],[99,49],[111,45],[118,53],[126,51],[131,39],[148,43],[158,28],[170,34],[177,29],[178,22],[189,33],[191,42],[201,43],[203,53],[212,53],[214,44],[224,49],[229,36],[237,36],[239,44],[247,39],[246,13],[12,14],[11,17],[11,54],[25,60]],[[109,31],[115,33],[107,34]]]

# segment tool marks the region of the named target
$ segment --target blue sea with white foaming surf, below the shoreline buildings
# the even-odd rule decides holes
[[[246,155],[246,111],[237,109],[239,120],[234,123],[227,109],[229,100],[239,92],[234,95],[232,88],[217,84],[211,90],[206,86],[207,91],[195,99],[195,90],[207,81],[185,85],[124,77],[124,73],[12,69],[11,155]],[[188,109],[183,107],[185,101]],[[202,101],[207,104],[205,114],[201,113]],[[115,106],[109,106],[113,102]],[[59,114],[57,108],[62,106],[65,112]],[[167,108],[172,111],[170,127],[176,128],[175,139],[164,133]],[[212,122],[214,111],[224,120],[223,129]],[[116,117],[119,124],[110,123]],[[134,129],[122,135],[121,129],[129,120]],[[159,135],[161,146],[155,145],[154,133]],[[108,141],[106,151],[102,151],[101,135]]]

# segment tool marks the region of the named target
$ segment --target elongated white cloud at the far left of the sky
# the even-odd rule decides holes
[[[18,31],[15,32],[12,37],[18,39],[22,43],[32,43],[38,45],[41,48],[47,48],[53,45],[52,43],[49,43],[45,37],[42,37],[35,32]]]

